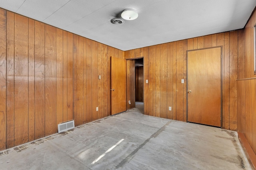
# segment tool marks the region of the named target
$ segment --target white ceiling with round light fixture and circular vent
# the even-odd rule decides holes
[[[0,7],[126,51],[243,28],[256,0],[0,0]],[[139,17],[114,25],[126,8]]]

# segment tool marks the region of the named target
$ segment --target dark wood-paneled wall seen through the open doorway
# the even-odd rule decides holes
[[[143,66],[139,66],[135,68],[135,100],[138,102],[143,102],[143,97],[144,97],[144,90],[143,90]]]

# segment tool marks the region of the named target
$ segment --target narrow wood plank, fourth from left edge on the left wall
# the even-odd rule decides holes
[[[28,141],[35,140],[35,21],[28,19]]]

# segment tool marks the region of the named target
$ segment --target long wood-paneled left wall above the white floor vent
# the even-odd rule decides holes
[[[110,115],[111,56],[124,52],[0,9],[0,150]]]

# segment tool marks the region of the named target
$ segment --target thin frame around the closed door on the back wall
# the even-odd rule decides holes
[[[208,48],[202,48],[202,49],[193,49],[193,50],[187,50],[187,58],[186,58],[186,122],[188,122],[188,52],[189,51],[196,51],[196,50],[204,50],[204,49],[212,49],[212,48],[219,48],[220,47],[220,74],[221,74],[221,85],[220,85],[220,128],[223,129],[223,46],[216,46],[216,47],[208,47]]]

